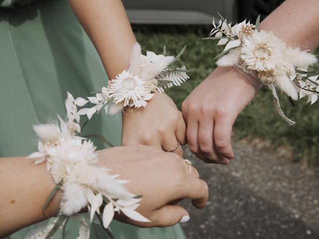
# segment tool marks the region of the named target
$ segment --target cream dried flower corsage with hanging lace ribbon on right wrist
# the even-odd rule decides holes
[[[308,96],[308,102],[314,104],[319,95],[318,75],[309,72],[311,64],[317,62],[315,55],[300,48],[285,44],[273,32],[259,30],[260,16],[256,24],[244,20],[231,25],[220,15],[221,19],[209,37],[218,39],[217,45],[225,45],[224,50],[215,57],[218,66],[234,66],[246,75],[255,86],[267,85],[274,97],[275,108],[289,124],[295,122],[288,119],[280,108],[275,87],[287,94],[289,100],[297,101]]]

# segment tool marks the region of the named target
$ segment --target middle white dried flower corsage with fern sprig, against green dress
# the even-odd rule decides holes
[[[146,56],[141,53],[141,46],[136,42],[128,69],[121,72],[116,79],[110,80],[107,87],[101,91],[93,92],[96,97],[88,97],[94,104],[92,108],[81,109],[79,115],[87,115],[89,119],[100,113],[103,109],[108,114],[114,115],[124,107],[145,107],[156,91],[162,93],[166,87],[180,86],[186,81],[185,66],[177,67],[173,63],[183,54],[186,46],[174,56],[163,53],[157,55],[147,51]]]

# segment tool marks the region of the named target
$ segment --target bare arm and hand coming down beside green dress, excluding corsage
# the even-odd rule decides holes
[[[128,68],[136,42],[121,0],[69,0],[83,28],[97,49],[109,79]],[[143,127],[136,127],[143,125]],[[156,126],[154,126],[156,125]],[[170,151],[186,143],[185,122],[172,100],[156,93],[146,108],[126,109],[122,144],[146,144]],[[182,156],[181,147],[175,153]]]

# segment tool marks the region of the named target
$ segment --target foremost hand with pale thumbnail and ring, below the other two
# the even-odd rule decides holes
[[[167,227],[189,219],[187,211],[175,205],[183,198],[202,208],[208,198],[208,186],[199,179],[197,170],[179,156],[153,146],[122,146],[98,151],[99,166],[110,168],[111,174],[129,180],[127,189],[143,195],[139,213],[151,223],[133,221],[123,214],[116,219],[138,227]],[[105,160],[102,160],[105,159]]]

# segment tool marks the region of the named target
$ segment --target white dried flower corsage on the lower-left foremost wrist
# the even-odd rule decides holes
[[[96,216],[106,230],[115,212],[122,212],[135,221],[149,222],[135,211],[141,199],[125,188],[128,181],[116,179],[119,175],[110,175],[108,169],[95,166],[98,162],[94,153],[96,147],[92,141],[77,135],[81,130],[77,106],[86,103],[87,100],[74,99],[68,93],[65,101],[67,121],[58,116],[59,123],[33,126],[39,137],[38,152],[33,152],[28,158],[36,159],[35,164],[46,162],[56,183],[42,209],[45,210],[58,189],[63,192],[57,218],[42,232],[33,235],[34,239],[50,238],[56,230],[65,227],[70,216],[85,207],[90,212],[90,222]],[[100,216],[101,206],[104,206],[103,217]],[[89,235],[86,223],[81,225],[82,235]]]

